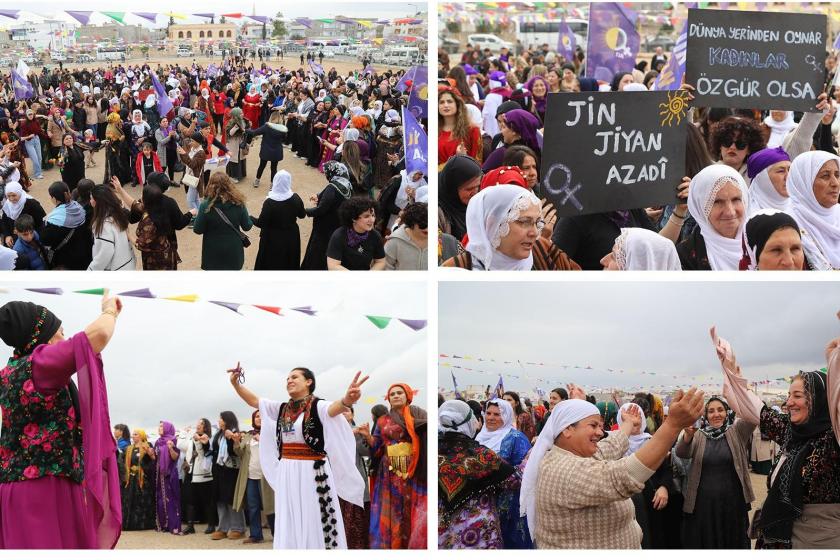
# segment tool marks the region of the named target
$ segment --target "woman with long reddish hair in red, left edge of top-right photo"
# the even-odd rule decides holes
[[[481,160],[481,131],[467,120],[467,108],[455,88],[438,86],[438,168],[454,155]]]

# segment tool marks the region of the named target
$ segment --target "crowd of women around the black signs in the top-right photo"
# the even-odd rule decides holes
[[[472,270],[840,269],[834,81],[816,112],[692,107],[679,204],[558,218],[540,176],[549,94],[649,91],[667,62],[611,82],[578,46],[438,51],[438,262]],[[683,84],[693,99],[694,88]],[[498,185],[515,189],[498,190]],[[524,192],[523,192],[524,191]]]

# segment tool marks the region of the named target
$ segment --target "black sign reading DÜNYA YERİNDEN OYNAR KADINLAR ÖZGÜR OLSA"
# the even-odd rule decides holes
[[[821,14],[689,10],[685,81],[695,104],[816,112],[826,26]]]

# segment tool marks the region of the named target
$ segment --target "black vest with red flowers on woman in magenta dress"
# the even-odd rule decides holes
[[[82,430],[70,391],[44,395],[32,381],[32,357],[0,370],[0,482],[63,476],[84,478]]]

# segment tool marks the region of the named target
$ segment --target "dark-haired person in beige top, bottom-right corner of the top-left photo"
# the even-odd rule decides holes
[[[429,256],[429,205],[413,202],[402,212],[402,223],[385,242],[386,270],[426,270]]]

